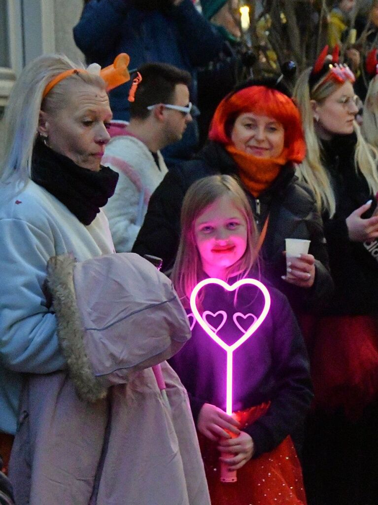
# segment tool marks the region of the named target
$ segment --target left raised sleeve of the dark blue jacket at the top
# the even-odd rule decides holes
[[[117,39],[124,29],[120,18],[126,16],[130,0],[92,0],[84,7],[74,27],[76,45],[88,57],[96,60],[113,53]]]

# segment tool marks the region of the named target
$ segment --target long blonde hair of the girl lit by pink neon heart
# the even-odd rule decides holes
[[[256,224],[247,196],[238,182],[230,175],[211,175],[194,182],[183,201],[180,243],[172,271],[173,284],[186,306],[193,288],[203,275],[194,223],[205,209],[225,195],[231,199],[247,224],[247,247],[240,260],[228,269],[227,278],[235,275],[245,277],[256,260]]]

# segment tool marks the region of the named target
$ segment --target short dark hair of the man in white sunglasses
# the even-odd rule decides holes
[[[146,63],[138,72],[142,80],[135,91],[135,101],[130,103],[131,118],[146,119],[150,105],[172,104],[176,84],[189,86],[191,82],[189,72],[167,63]]]

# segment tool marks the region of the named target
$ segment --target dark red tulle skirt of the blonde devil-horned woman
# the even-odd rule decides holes
[[[314,406],[343,407],[351,419],[378,397],[378,317],[332,316],[301,321],[308,343]]]

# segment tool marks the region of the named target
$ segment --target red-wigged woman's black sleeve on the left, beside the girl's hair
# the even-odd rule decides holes
[[[180,213],[186,189],[175,169],[167,173],[153,192],[132,252],[157,256],[163,271],[172,268],[180,238]]]

